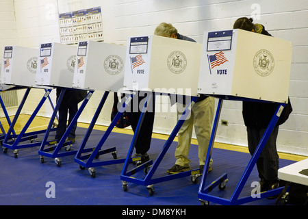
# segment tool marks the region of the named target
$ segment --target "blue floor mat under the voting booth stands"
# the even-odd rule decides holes
[[[76,133],[76,142],[71,150],[79,149],[86,129],[78,127]],[[93,130],[86,147],[96,146],[101,136],[103,131]],[[127,134],[111,133],[102,149],[116,146],[118,158],[125,158],[132,138],[133,136]],[[42,136],[38,140],[42,140]],[[164,142],[159,139],[152,140],[149,151],[151,159],[155,159],[159,154]],[[176,146],[177,142],[171,144],[155,172],[155,177],[166,175],[166,170],[175,164]],[[45,162],[42,164],[38,149],[38,146],[21,149],[17,158],[14,158],[10,149],[8,153],[0,153],[0,205],[201,205],[198,201],[200,179],[197,183],[192,183],[190,177],[157,183],[153,195],[149,195],[145,186],[129,183],[125,192],[120,180],[123,164],[99,166],[96,168],[96,177],[92,178],[87,168],[81,170],[79,164],[75,163],[75,155],[61,157],[62,166],[58,167],[49,157],[45,157]],[[198,168],[197,153],[197,146],[192,145],[191,168]],[[207,176],[206,185],[227,172],[229,178],[227,188],[224,191],[216,188],[211,194],[229,198],[238,185],[251,155],[214,148],[211,158],[214,160],[213,170]],[[113,159],[111,154],[101,155],[98,160],[108,159]],[[292,163],[294,162],[286,159],[279,160],[280,167]],[[253,181],[259,181],[256,168],[240,196],[250,195]],[[51,192],[51,188],[55,190]],[[51,194],[55,197],[50,197]],[[274,205],[274,203],[275,200],[263,198],[246,205]],[[211,203],[211,205],[216,204]]]

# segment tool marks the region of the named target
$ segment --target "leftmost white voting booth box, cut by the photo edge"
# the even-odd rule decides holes
[[[4,47],[1,83],[14,86],[36,86],[38,49],[27,47]]]

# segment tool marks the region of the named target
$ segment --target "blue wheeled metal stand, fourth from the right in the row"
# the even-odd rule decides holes
[[[59,110],[60,104],[62,102],[63,96],[65,94],[66,88],[62,88],[62,91],[60,93],[59,99],[57,100],[57,104],[55,105],[55,108],[53,110],[53,114],[51,115],[51,120],[49,121],[49,125],[47,127],[47,130],[44,134],[44,138],[40,144],[40,149],[38,151],[38,154],[40,155],[40,162],[44,163],[44,157],[51,157],[55,158],[55,164],[57,166],[61,166],[62,161],[59,157],[65,157],[70,155],[75,155],[77,153],[77,150],[70,151],[70,146],[72,145],[71,141],[65,142],[68,134],[73,129],[75,123],[77,123],[77,120],[81,114],[81,112],[84,110],[84,107],[86,107],[86,104],[88,103],[90,97],[92,96],[94,91],[89,91],[84,101],[81,103],[81,106],[79,107],[77,113],[75,114],[73,120],[70,122],[70,125],[68,125],[64,135],[60,139],[59,142],[57,140],[47,140],[49,137],[49,133],[51,131],[51,127],[53,126],[53,121],[55,120],[55,116],[57,114],[57,111]],[[48,148],[45,148],[45,146],[49,146]],[[60,149],[62,147],[65,147],[65,152],[60,153]]]

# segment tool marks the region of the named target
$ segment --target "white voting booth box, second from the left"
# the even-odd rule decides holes
[[[36,84],[72,88],[76,62],[76,47],[57,42],[40,44]]]

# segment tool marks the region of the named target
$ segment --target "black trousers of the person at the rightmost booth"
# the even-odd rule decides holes
[[[274,127],[263,151],[257,159],[257,170],[259,172],[260,179],[266,179],[268,181],[275,181],[278,179],[279,155],[276,147],[278,129],[278,126]],[[265,131],[266,129],[247,127],[248,149],[251,155],[253,155],[255,149],[257,149],[259,141]]]

